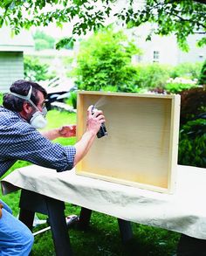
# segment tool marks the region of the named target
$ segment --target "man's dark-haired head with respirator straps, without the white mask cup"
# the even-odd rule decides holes
[[[42,113],[46,96],[45,89],[38,83],[17,80],[10,86],[10,93],[3,97],[3,107],[18,112],[26,121],[30,121],[33,114]]]

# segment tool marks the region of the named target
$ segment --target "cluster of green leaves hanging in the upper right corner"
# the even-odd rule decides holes
[[[124,21],[127,17],[128,27],[139,26],[151,22],[157,24],[155,34],[170,35],[175,33],[179,46],[188,51],[187,38],[190,34],[206,34],[206,4],[195,3],[192,0],[181,1],[147,1],[142,10],[131,12],[125,10],[118,17]],[[128,18],[129,17],[129,18]],[[148,35],[151,38],[151,35]],[[206,45],[206,38],[202,38],[198,45]]]

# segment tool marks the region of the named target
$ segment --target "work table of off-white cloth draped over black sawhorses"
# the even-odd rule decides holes
[[[3,194],[21,191],[19,218],[30,228],[35,212],[47,214],[57,255],[72,255],[65,223],[65,202],[82,207],[80,224],[92,211],[118,218],[123,240],[132,236],[130,222],[152,225],[206,239],[206,169],[178,165],[173,194],[143,190],[88,176],[75,170],[56,172],[37,165],[17,169],[1,181]]]

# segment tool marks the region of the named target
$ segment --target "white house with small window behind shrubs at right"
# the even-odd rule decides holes
[[[134,38],[136,45],[142,51],[142,55],[134,55],[132,59],[134,64],[156,62],[175,66],[185,62],[203,62],[204,59],[206,59],[206,46],[196,46],[197,40],[203,38],[203,35],[190,35],[187,38],[189,52],[183,52],[177,45],[175,35],[167,37],[152,35],[151,40],[146,41],[151,28],[151,24],[142,24],[138,28],[133,28],[127,31],[128,37]]]

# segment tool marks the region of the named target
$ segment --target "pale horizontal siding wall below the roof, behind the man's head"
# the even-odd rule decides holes
[[[0,93],[7,93],[10,85],[24,79],[23,52],[0,52]]]

